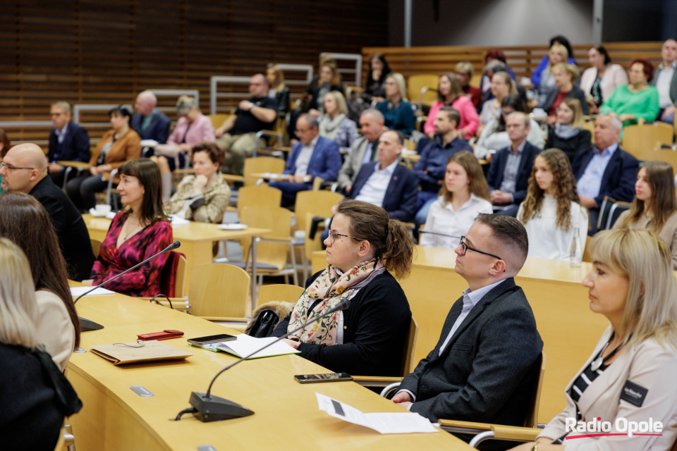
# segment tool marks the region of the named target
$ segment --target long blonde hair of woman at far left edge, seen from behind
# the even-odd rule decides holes
[[[34,348],[37,302],[23,251],[0,238],[0,342]]]

